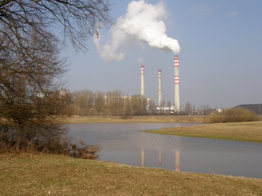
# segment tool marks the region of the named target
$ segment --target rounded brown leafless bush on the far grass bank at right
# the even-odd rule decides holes
[[[224,112],[214,114],[210,118],[210,123],[234,123],[258,121],[256,113],[244,108],[230,108]]]

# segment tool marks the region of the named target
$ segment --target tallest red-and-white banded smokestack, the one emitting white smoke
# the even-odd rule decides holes
[[[179,98],[179,58],[175,55],[175,112],[180,111],[180,98]]]

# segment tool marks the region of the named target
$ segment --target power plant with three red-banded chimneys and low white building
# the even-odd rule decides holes
[[[179,97],[179,57],[178,55],[175,55],[174,59],[174,68],[175,68],[175,77],[174,77],[174,85],[175,85],[175,101],[174,106],[171,106],[171,104],[168,104],[168,107],[165,107],[163,105],[162,100],[162,74],[161,70],[158,70],[158,107],[157,110],[161,111],[174,111],[176,113],[181,112],[180,107],[180,97]],[[145,72],[145,66],[141,65],[141,97],[145,96],[145,80],[144,80],[144,72]],[[170,103],[170,102],[169,102]]]

